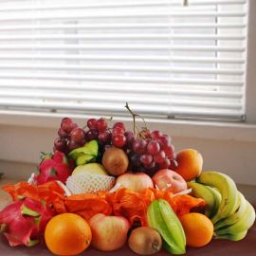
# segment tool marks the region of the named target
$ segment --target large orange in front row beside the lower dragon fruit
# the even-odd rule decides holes
[[[78,214],[62,213],[46,225],[46,246],[55,255],[77,255],[89,247],[92,232],[88,223]]]

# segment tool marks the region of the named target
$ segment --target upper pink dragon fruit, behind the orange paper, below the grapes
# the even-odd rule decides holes
[[[65,183],[73,168],[64,153],[56,151],[54,155],[46,154],[38,166],[39,174],[35,176],[36,184],[60,180]]]

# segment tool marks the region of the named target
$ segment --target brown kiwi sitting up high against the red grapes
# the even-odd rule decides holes
[[[119,148],[108,148],[102,157],[102,165],[109,174],[119,176],[127,171],[129,164],[128,156]]]

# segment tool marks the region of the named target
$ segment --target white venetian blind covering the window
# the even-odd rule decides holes
[[[0,1],[0,108],[245,117],[247,0]]]

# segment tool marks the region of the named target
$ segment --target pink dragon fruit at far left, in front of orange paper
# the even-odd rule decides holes
[[[51,217],[52,213],[43,203],[25,197],[0,211],[0,232],[11,247],[32,247],[43,241]]]

